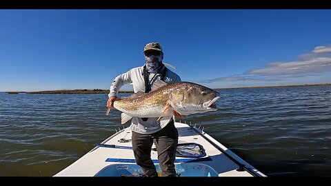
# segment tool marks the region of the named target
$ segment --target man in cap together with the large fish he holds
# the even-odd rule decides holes
[[[121,123],[131,121],[132,149],[143,176],[158,176],[150,153],[153,143],[157,147],[161,176],[176,176],[174,160],[178,144],[178,131],[173,116],[217,110],[214,103],[218,92],[181,78],[165,67],[163,50],[159,43],[148,43],[143,48],[146,63],[117,76],[108,94],[108,112],[115,108],[121,112]],[[171,66],[171,65],[169,65]],[[118,98],[120,88],[132,83],[135,94]]]

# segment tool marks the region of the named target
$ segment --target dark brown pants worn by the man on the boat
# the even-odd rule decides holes
[[[154,134],[132,132],[134,158],[146,176],[157,176],[157,169],[150,158],[153,142],[157,147],[161,176],[176,176],[174,160],[178,144],[178,131],[174,127],[173,120]]]

